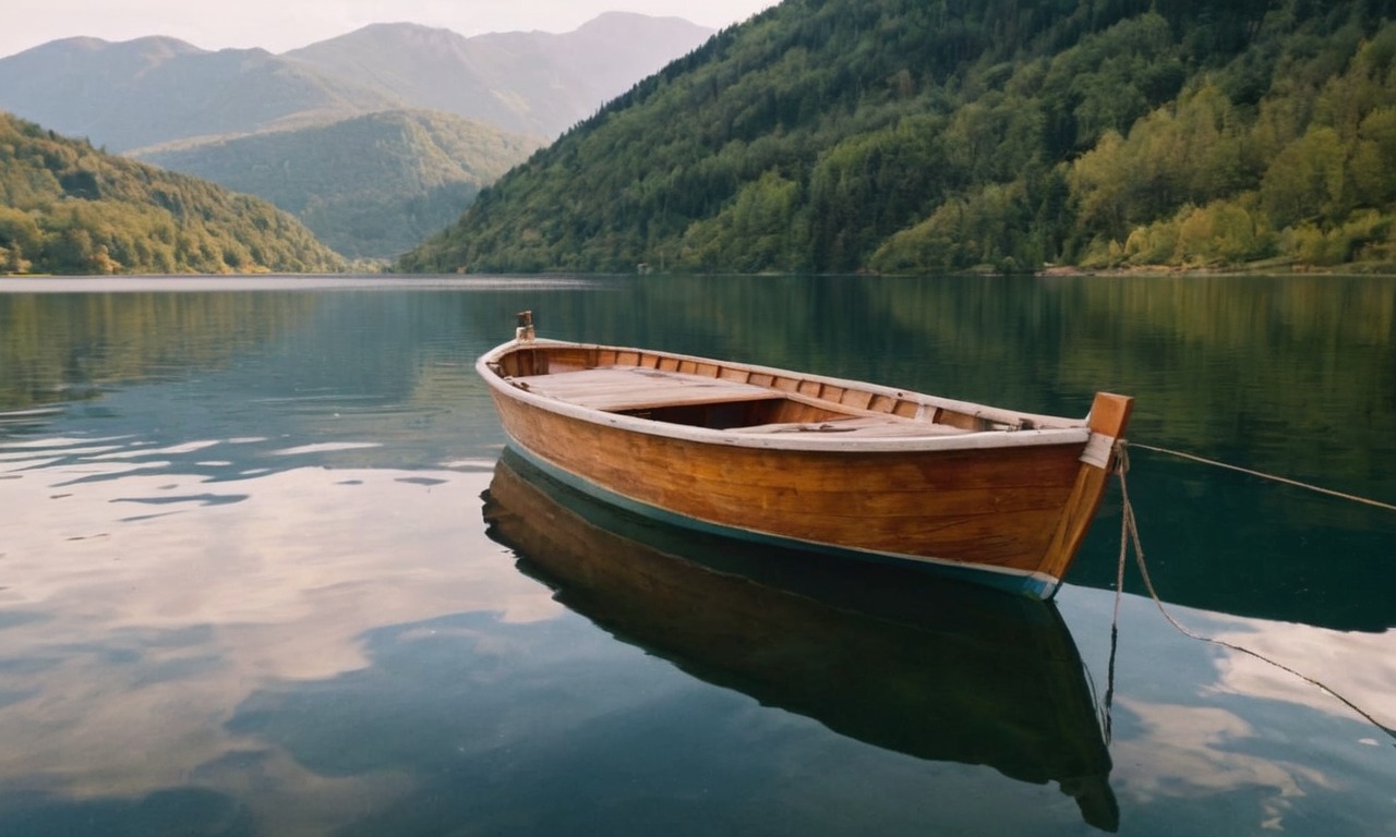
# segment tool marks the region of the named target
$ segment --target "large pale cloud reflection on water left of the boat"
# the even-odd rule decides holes
[[[302,466],[222,483],[242,502],[221,505],[208,474],[133,469],[112,449],[47,439],[0,451],[0,508],[24,522],[0,545],[0,794],[138,799],[193,771],[229,792],[275,787],[269,799],[304,812],[318,799],[304,824],[321,831],[409,783],[327,780],[230,732],[250,693],[364,667],[363,638],[384,625],[561,612],[480,531],[483,474]],[[180,513],[130,518],[133,501]],[[239,759],[253,774],[230,766]]]

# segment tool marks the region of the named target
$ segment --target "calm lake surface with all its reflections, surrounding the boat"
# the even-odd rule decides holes
[[[1396,504],[1389,278],[4,279],[0,834],[1396,834],[1396,512],[1134,449],[1230,646],[1118,485],[1053,605],[794,573],[498,465],[522,308]]]

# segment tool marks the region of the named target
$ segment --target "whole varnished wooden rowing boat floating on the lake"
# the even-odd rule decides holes
[[[1037,416],[519,322],[476,371],[550,476],[669,523],[1039,598],[1085,538],[1132,406],[1099,393],[1087,418]]]

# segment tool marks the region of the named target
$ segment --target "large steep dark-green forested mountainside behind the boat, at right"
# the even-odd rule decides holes
[[[1392,0],[786,0],[403,271],[1396,264]]]

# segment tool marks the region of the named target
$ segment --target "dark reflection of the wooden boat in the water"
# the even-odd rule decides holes
[[[519,569],[618,639],[884,749],[1055,781],[1089,824],[1118,827],[1092,691],[1051,603],[673,529],[508,449],[484,501]]]

